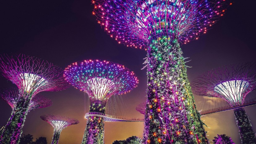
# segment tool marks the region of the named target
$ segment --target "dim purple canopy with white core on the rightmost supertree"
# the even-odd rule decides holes
[[[207,71],[192,82],[193,93],[219,97],[231,106],[244,103],[248,93],[256,89],[256,62],[241,62]]]

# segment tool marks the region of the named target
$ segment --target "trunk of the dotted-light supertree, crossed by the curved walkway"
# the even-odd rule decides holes
[[[105,114],[105,105],[91,104],[90,112],[100,112]],[[87,120],[83,135],[82,144],[103,144],[104,143],[104,118],[91,116]]]

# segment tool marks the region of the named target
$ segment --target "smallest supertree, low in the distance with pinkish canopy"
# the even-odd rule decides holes
[[[67,126],[76,125],[79,123],[79,121],[75,118],[69,118],[69,117],[60,116],[60,115],[47,114],[47,115],[40,116],[40,118],[53,126],[52,144],[58,144],[60,139],[60,133],[64,128],[66,128]]]

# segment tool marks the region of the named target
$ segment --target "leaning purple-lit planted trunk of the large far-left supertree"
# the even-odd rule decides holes
[[[19,143],[22,128],[28,114],[30,99],[21,97],[17,106],[12,111],[6,126],[2,130],[0,143],[16,144]]]

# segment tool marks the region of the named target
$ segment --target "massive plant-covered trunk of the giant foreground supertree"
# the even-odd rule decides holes
[[[178,42],[152,41],[147,61],[144,143],[208,143]]]

